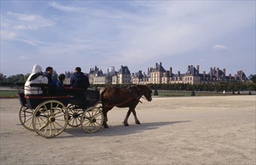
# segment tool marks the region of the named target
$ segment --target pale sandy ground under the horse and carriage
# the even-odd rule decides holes
[[[45,139],[20,125],[17,99],[0,99],[1,164],[255,164],[256,96],[153,98],[137,107],[142,124],[81,127]]]

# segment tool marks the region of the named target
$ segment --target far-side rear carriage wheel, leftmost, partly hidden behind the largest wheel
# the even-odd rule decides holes
[[[34,110],[29,109],[27,107],[20,107],[20,124],[23,125],[27,130],[34,130],[33,124],[32,124],[32,116],[33,116]]]

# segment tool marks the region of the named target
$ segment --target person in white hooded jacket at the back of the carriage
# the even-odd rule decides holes
[[[31,84],[47,84],[48,79],[42,75],[41,67],[39,65],[34,65],[32,69],[32,74],[29,75],[29,78],[26,80],[24,86],[25,95],[41,95],[43,90],[41,87],[32,87]]]

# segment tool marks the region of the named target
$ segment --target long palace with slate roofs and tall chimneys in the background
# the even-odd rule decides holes
[[[69,83],[72,73],[66,72],[66,83]],[[148,73],[137,73],[131,74],[127,66],[120,66],[118,71],[114,70],[111,66],[106,74],[103,74],[102,70],[97,68],[91,68],[89,74],[87,74],[90,80],[90,84],[166,84],[166,83],[189,83],[189,84],[218,84],[218,83],[229,83],[229,82],[247,82],[248,78],[245,76],[243,71],[237,71],[237,74],[231,76],[226,75],[226,69],[223,68],[210,68],[209,72],[203,71],[200,74],[200,66],[194,67],[193,65],[187,66],[187,72],[181,74],[178,71],[177,74],[172,72],[172,68],[166,71],[162,66],[162,62],[152,68],[148,68]]]

